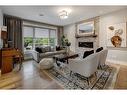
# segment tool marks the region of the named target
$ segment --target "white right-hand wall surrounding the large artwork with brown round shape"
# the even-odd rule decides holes
[[[106,48],[106,27],[122,22],[127,22],[127,9],[100,16],[99,46]],[[107,60],[113,63],[127,64],[127,48],[109,49]]]

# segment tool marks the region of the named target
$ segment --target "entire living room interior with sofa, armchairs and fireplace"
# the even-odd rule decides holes
[[[0,88],[127,89],[126,15],[127,6],[0,6]]]

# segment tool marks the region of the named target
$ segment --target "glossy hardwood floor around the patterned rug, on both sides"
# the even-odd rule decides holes
[[[120,67],[114,89],[127,89],[127,66],[117,64],[110,65]],[[16,89],[63,89],[54,80],[40,71],[35,61],[25,61],[22,70],[18,72],[18,76],[15,76],[16,78],[14,76],[13,74],[3,75],[0,81],[6,78],[10,80],[11,77],[13,77],[12,80],[14,80],[18,77],[18,81],[14,81],[14,84],[20,84],[17,85],[18,87]],[[21,79],[19,80],[19,78]],[[9,87],[11,88],[10,85],[8,88]]]

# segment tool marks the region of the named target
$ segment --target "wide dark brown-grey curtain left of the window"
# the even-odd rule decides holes
[[[22,50],[22,19],[4,15],[3,24],[7,26],[8,45]]]

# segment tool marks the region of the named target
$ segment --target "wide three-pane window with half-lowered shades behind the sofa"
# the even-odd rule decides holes
[[[24,50],[31,50],[38,46],[57,45],[57,32],[55,29],[23,27]]]

